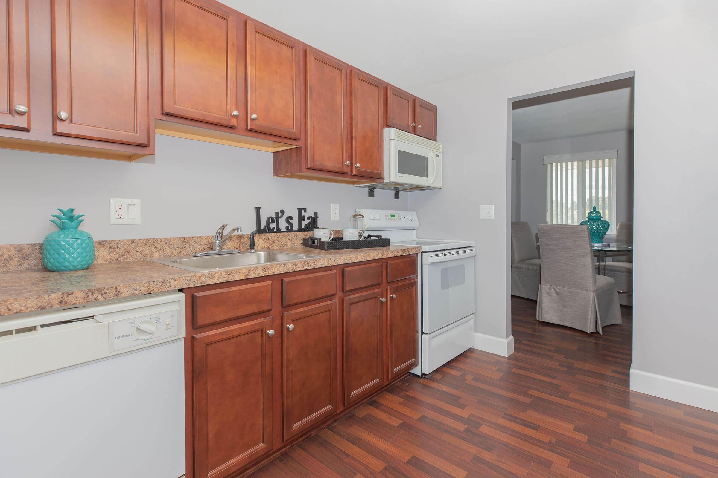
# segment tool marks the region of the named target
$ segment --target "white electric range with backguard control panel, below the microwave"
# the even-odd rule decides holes
[[[416,211],[357,209],[367,234],[391,244],[421,247],[418,255],[419,365],[411,373],[431,373],[474,345],[475,260],[473,241],[420,239]]]

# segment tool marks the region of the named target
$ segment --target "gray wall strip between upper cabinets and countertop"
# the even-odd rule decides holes
[[[208,236],[220,224],[255,228],[263,216],[297,207],[319,212],[320,226],[348,227],[356,207],[407,209],[391,191],[344,184],[273,178],[271,153],[157,135],[157,154],[134,163],[0,149],[0,204],[12,220],[0,221],[0,244],[42,242],[53,231],[56,208],[86,214],[82,228],[95,239]],[[142,224],[111,225],[110,198],[141,200]],[[340,220],[330,221],[330,204]]]

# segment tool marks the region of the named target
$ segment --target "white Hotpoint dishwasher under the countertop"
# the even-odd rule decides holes
[[[185,474],[185,295],[0,317],[0,475]]]

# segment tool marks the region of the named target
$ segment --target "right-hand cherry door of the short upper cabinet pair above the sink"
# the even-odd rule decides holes
[[[247,128],[299,139],[299,42],[247,20]]]

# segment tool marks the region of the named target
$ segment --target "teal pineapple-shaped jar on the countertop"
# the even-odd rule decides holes
[[[95,262],[95,241],[88,232],[78,230],[85,214],[75,214],[75,208],[57,209],[50,222],[58,229],[45,236],[42,242],[42,264],[55,271],[87,269]]]

